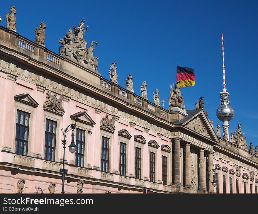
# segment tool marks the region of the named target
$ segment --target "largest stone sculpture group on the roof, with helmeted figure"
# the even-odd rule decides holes
[[[74,61],[76,60],[79,64],[97,72],[97,60],[99,57],[94,57],[93,51],[95,49],[94,44],[97,45],[98,43],[92,41],[91,45],[86,48],[87,42],[84,39],[84,34],[89,26],[84,30],[84,22],[85,20],[80,21],[77,28],[73,26],[74,33],[69,28],[64,39],[59,39],[59,43],[63,45],[59,47],[59,55]]]

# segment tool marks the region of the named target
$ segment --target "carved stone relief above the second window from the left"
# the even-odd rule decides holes
[[[62,107],[64,96],[60,96],[59,99],[57,99],[56,96],[57,94],[51,95],[51,91],[48,90],[46,100],[43,104],[43,108],[56,111],[57,113],[60,113],[63,115],[65,113],[65,110]]]

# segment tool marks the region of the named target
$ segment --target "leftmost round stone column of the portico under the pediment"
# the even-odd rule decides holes
[[[174,138],[174,184],[181,184],[180,179],[180,138]]]

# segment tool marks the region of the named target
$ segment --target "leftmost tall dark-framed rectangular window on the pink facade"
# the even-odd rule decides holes
[[[29,138],[29,119],[30,114],[17,109],[16,115],[16,134],[15,134],[15,153],[28,154]]]

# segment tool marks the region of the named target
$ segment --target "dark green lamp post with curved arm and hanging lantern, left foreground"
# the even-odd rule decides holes
[[[62,143],[63,143],[63,148],[64,148],[64,156],[63,156],[63,168],[62,169],[60,169],[60,173],[62,173],[62,193],[65,193],[65,191],[64,191],[64,185],[65,185],[65,173],[67,173],[67,169],[65,169],[65,148],[66,148],[66,143],[68,142],[67,140],[66,140],[66,134],[68,133],[68,131],[70,130],[70,129],[72,129],[72,142],[71,142],[71,144],[68,146],[69,147],[69,152],[71,152],[71,153],[74,153],[75,151],[76,151],[76,145],[75,145],[75,143],[74,143],[74,129],[75,129],[75,124],[76,124],[76,122],[75,123],[72,123],[72,124],[70,124],[70,125],[68,125],[67,127],[66,127],[66,129],[64,130],[64,129],[61,129],[61,131],[62,131],[62,133],[63,133],[63,137],[64,137],[64,139],[62,140]],[[64,131],[63,131],[64,130]]]

